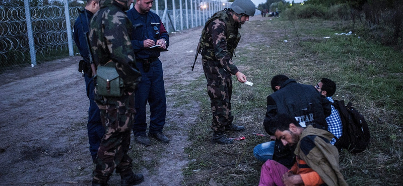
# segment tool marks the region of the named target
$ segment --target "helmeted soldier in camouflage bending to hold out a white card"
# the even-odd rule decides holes
[[[214,130],[213,141],[218,144],[232,144],[223,131],[244,131],[243,126],[232,123],[231,95],[232,77],[239,82],[246,82],[246,76],[232,62],[232,55],[241,35],[238,29],[249,16],[255,13],[255,5],[250,0],[235,0],[231,9],[215,13],[201,31],[200,47],[203,58],[203,70],[207,79],[207,91],[211,100]]]

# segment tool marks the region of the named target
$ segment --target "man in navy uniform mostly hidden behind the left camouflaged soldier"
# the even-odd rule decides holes
[[[105,134],[105,128],[102,126],[101,113],[97,104],[94,102],[94,75],[95,71],[92,70],[91,65],[95,69],[95,64],[90,62],[90,51],[87,45],[86,33],[90,31],[90,20],[92,16],[99,10],[99,0],[88,0],[84,11],[80,11],[79,17],[74,23],[74,42],[83,57],[82,72],[84,72],[85,87],[87,89],[87,97],[90,100],[90,107],[88,108],[88,141],[90,143],[90,153],[92,161],[95,163],[97,157],[99,144],[101,143],[102,136]],[[92,61],[93,62],[93,61]]]

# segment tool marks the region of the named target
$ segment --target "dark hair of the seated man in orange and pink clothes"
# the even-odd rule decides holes
[[[270,135],[274,135],[277,130],[285,131],[290,129],[290,124],[293,123],[297,127],[301,127],[297,120],[294,117],[291,117],[286,114],[279,114],[275,117],[274,120],[271,121],[270,126],[264,126],[266,132]]]

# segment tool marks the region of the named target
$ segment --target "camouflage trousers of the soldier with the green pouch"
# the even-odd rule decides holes
[[[105,135],[99,145],[93,180],[104,183],[114,169],[120,175],[132,171],[132,159],[127,152],[136,113],[135,95],[124,91],[121,97],[99,97],[95,89],[95,101],[101,111]]]

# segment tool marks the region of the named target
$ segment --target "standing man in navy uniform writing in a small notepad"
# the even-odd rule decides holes
[[[153,2],[153,0],[136,0],[135,6],[127,12],[133,28],[131,44],[136,55],[136,66],[142,73],[142,80],[136,89],[136,117],[132,130],[135,141],[144,146],[151,145],[149,137],[162,143],[169,143],[168,137],[163,132],[167,103],[162,62],[158,58],[161,51],[169,46],[169,35],[160,17],[150,12]],[[148,136],[147,103],[150,105]]]

